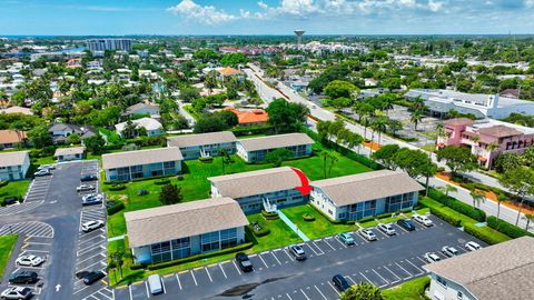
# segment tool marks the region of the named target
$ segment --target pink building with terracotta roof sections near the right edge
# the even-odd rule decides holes
[[[446,134],[437,139],[437,148],[468,147],[485,168],[492,168],[498,154],[521,154],[534,143],[534,129],[493,119],[451,119],[445,121],[445,131]]]

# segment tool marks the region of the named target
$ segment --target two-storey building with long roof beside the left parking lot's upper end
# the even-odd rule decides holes
[[[122,181],[155,176],[171,176],[181,171],[180,150],[176,147],[103,154],[106,180]]]

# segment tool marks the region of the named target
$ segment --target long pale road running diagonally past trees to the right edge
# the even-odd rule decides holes
[[[283,82],[278,83],[278,86],[277,86],[278,90],[275,90],[275,89],[268,87],[267,84],[263,83],[263,81],[261,81],[263,80],[263,77],[261,77],[263,71],[257,66],[249,64],[249,67],[250,67],[250,69],[247,69],[246,73],[255,82],[256,87],[258,87],[258,86],[261,87],[261,89],[258,89],[258,92],[264,100],[268,101],[268,99],[270,99],[273,97],[273,94],[277,94],[277,97],[284,97],[284,98],[286,98],[286,99],[288,99],[293,102],[305,104],[306,107],[308,107],[310,109],[310,114],[314,118],[317,118],[317,119],[324,120],[324,121],[336,120],[336,116],[333,112],[314,104],[312,101],[308,101],[307,99],[301,97],[299,93],[295,92],[291,88],[284,84]],[[310,122],[312,129],[315,130],[315,121],[313,121],[310,119],[308,121]],[[360,134],[362,137],[364,137],[365,129],[360,124],[352,123],[352,122],[345,122],[345,124],[346,124],[346,128],[349,129],[350,131],[356,132],[356,133]],[[393,139],[393,138],[388,137],[387,134],[382,134],[380,140],[378,140],[378,134],[375,134],[373,132],[373,130],[370,130],[368,128],[367,128],[365,138],[369,139],[369,140],[373,139],[373,140],[375,140],[375,142],[378,142],[380,144],[394,144],[394,143],[396,143],[399,147],[422,150],[422,149],[419,149],[419,148],[417,148],[413,144],[409,144],[407,142],[404,142],[402,140]],[[369,151],[370,151],[370,149],[363,149],[362,151],[359,151],[359,153],[368,156]],[[422,151],[424,151],[424,150],[422,150]],[[429,156],[432,157],[433,161],[435,163],[437,163],[439,167],[446,167],[444,162],[437,161],[437,157],[436,157],[435,153],[429,153]],[[485,183],[485,184],[488,184],[488,186],[492,186],[492,187],[497,187],[500,189],[503,189],[503,190],[507,191],[507,189],[502,187],[496,179],[494,179],[492,177],[488,177],[486,174],[483,174],[483,173],[479,173],[479,172],[468,172],[465,176],[467,176],[468,178],[471,178],[474,181],[478,181],[478,182],[482,182],[482,183]],[[444,186],[445,183],[443,181],[438,180],[437,178],[433,178],[433,180],[431,180],[431,184],[433,184],[435,187],[441,187],[441,186]],[[458,192],[451,193],[451,196],[456,197],[459,200],[462,200],[463,202],[466,202],[468,204],[472,204],[472,202],[473,202],[473,199],[471,198],[468,192],[465,192],[465,190],[459,190]],[[485,203],[481,204],[481,209],[484,210],[490,216],[496,216],[496,213],[497,213],[497,204],[495,202],[491,201],[491,200],[486,200]],[[518,226],[524,228],[526,226],[526,221],[523,220],[523,216],[524,214],[522,213],[522,217],[520,217]],[[511,222],[511,223],[515,223],[516,218],[517,218],[517,212],[515,210],[512,210],[507,207],[502,206],[500,217],[503,218],[504,220]],[[534,227],[531,228],[531,231],[534,232]]]

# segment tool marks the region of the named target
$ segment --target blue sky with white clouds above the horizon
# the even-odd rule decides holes
[[[0,36],[534,33],[534,0],[0,0]]]

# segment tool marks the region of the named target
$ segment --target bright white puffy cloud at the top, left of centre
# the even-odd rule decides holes
[[[199,6],[192,0],[182,0],[179,4],[168,8],[167,11],[182,16],[188,20],[209,26],[235,21],[240,18],[226,13],[224,10],[218,10],[214,6]],[[243,14],[241,12],[241,16]]]

